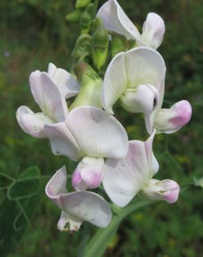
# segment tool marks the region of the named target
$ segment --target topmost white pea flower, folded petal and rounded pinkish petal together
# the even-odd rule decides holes
[[[147,19],[143,24],[142,34],[115,0],[109,0],[104,3],[99,9],[97,17],[102,19],[104,27],[108,31],[125,35],[128,40],[136,40],[138,46],[157,49],[163,41],[165,24],[163,19],[156,13],[148,13]]]

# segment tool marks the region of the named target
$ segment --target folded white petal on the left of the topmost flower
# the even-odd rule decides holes
[[[99,9],[97,17],[104,22],[104,27],[108,31],[125,35],[127,39],[141,40],[140,33],[129,17],[124,13],[117,1],[110,0],[104,3]]]

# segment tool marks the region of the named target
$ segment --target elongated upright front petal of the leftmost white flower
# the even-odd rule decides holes
[[[45,115],[56,122],[63,122],[67,116],[67,105],[60,91],[46,72],[33,72],[30,76],[31,91]]]

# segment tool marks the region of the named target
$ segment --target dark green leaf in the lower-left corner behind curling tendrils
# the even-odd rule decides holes
[[[4,199],[0,205],[0,256],[6,257],[16,247],[38,205],[40,171],[36,167],[30,167],[19,177],[19,181],[10,186],[10,197]],[[35,177],[38,177],[38,180]],[[32,185],[33,183],[33,185]],[[35,190],[33,189],[35,187]],[[22,192],[20,191],[22,190]],[[35,192],[33,197],[28,197]],[[24,196],[23,199],[21,197]],[[26,196],[26,197],[25,197]],[[18,199],[19,198],[19,199]]]

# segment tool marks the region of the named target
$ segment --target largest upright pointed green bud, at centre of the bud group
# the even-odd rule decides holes
[[[95,22],[95,33],[92,35],[92,58],[97,69],[101,69],[108,56],[108,33],[100,19]]]

